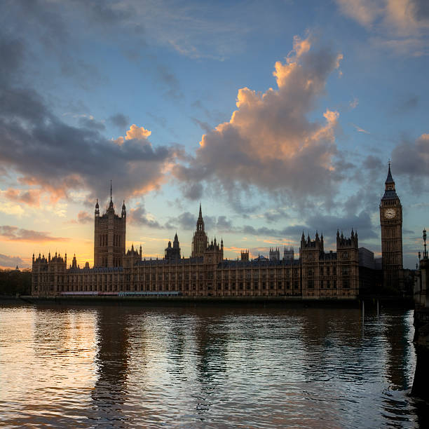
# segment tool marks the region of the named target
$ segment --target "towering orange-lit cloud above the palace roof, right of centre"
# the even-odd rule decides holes
[[[203,135],[193,161],[173,168],[176,177],[215,182],[222,191],[254,185],[295,200],[331,197],[339,179],[332,162],[339,114],[326,109],[319,121],[308,115],[342,55],[311,43],[296,36],[285,63],[275,63],[277,89],[238,90],[230,121]]]

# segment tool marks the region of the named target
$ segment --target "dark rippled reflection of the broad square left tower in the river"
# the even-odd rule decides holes
[[[97,380],[92,397],[90,419],[96,427],[118,426],[127,418],[128,323],[121,307],[103,306],[97,311]],[[121,427],[121,425],[119,425]]]

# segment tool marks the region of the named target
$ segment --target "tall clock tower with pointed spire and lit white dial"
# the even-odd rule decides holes
[[[381,256],[385,287],[400,289],[402,279],[402,205],[390,172],[380,201]]]

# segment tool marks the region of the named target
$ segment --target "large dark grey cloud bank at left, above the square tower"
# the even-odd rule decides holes
[[[5,79],[0,103],[0,171],[13,171],[22,184],[42,188],[53,200],[79,189],[90,189],[95,200],[107,194],[110,179],[122,198],[157,189],[182,151],[152,147],[150,131],[135,124],[120,145],[97,128],[67,125],[35,90]]]

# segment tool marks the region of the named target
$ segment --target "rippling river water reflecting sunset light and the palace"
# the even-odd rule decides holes
[[[417,428],[413,333],[397,310],[4,307],[0,424]]]

